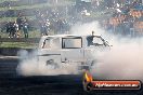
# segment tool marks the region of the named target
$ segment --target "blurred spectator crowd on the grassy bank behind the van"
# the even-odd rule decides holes
[[[143,2],[142,0],[76,0],[75,5],[61,8],[36,10],[36,24],[41,36],[48,36],[50,32],[68,33],[69,28],[77,22],[98,21],[91,15],[96,11],[109,10],[108,18],[100,21],[101,26],[108,32],[134,36],[143,32]],[[104,14],[106,15],[106,14]],[[34,24],[34,23],[32,23]],[[29,37],[30,21],[23,17],[20,12],[15,22],[5,24],[9,38],[20,38],[24,33]]]

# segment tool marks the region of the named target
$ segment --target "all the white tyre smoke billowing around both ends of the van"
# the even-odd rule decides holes
[[[91,69],[92,74],[98,79],[107,80],[143,80],[143,45],[142,38],[122,38],[107,33],[96,22],[87,24],[76,24],[72,27],[72,35],[91,35],[94,31],[95,35],[101,35],[113,46],[109,51],[102,53],[102,56],[92,56],[98,60]],[[32,58],[26,58],[26,53],[22,52],[22,63],[17,67],[17,71],[24,76],[48,76],[48,74],[73,74],[77,73],[77,65],[60,64],[61,68],[51,69],[43,66],[43,62],[40,62],[40,66],[37,63],[36,53],[32,54]]]

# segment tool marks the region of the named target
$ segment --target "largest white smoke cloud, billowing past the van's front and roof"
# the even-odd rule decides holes
[[[91,73],[98,79],[106,80],[143,80],[143,39],[114,36],[99,27],[96,22],[76,25],[72,31],[77,35],[89,35],[91,31],[101,35],[113,46],[109,51],[92,54],[98,60]]]

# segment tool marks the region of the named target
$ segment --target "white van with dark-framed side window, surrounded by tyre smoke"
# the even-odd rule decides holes
[[[75,64],[78,70],[90,69],[96,62],[95,53],[109,50],[107,41],[101,36],[55,35],[41,38],[38,60],[48,68]]]

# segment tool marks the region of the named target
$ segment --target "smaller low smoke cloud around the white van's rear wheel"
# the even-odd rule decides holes
[[[76,64],[57,63],[55,66],[46,65],[46,62],[38,60],[37,51],[28,54],[27,51],[20,51],[21,63],[16,71],[21,76],[57,76],[57,74],[76,74]]]

